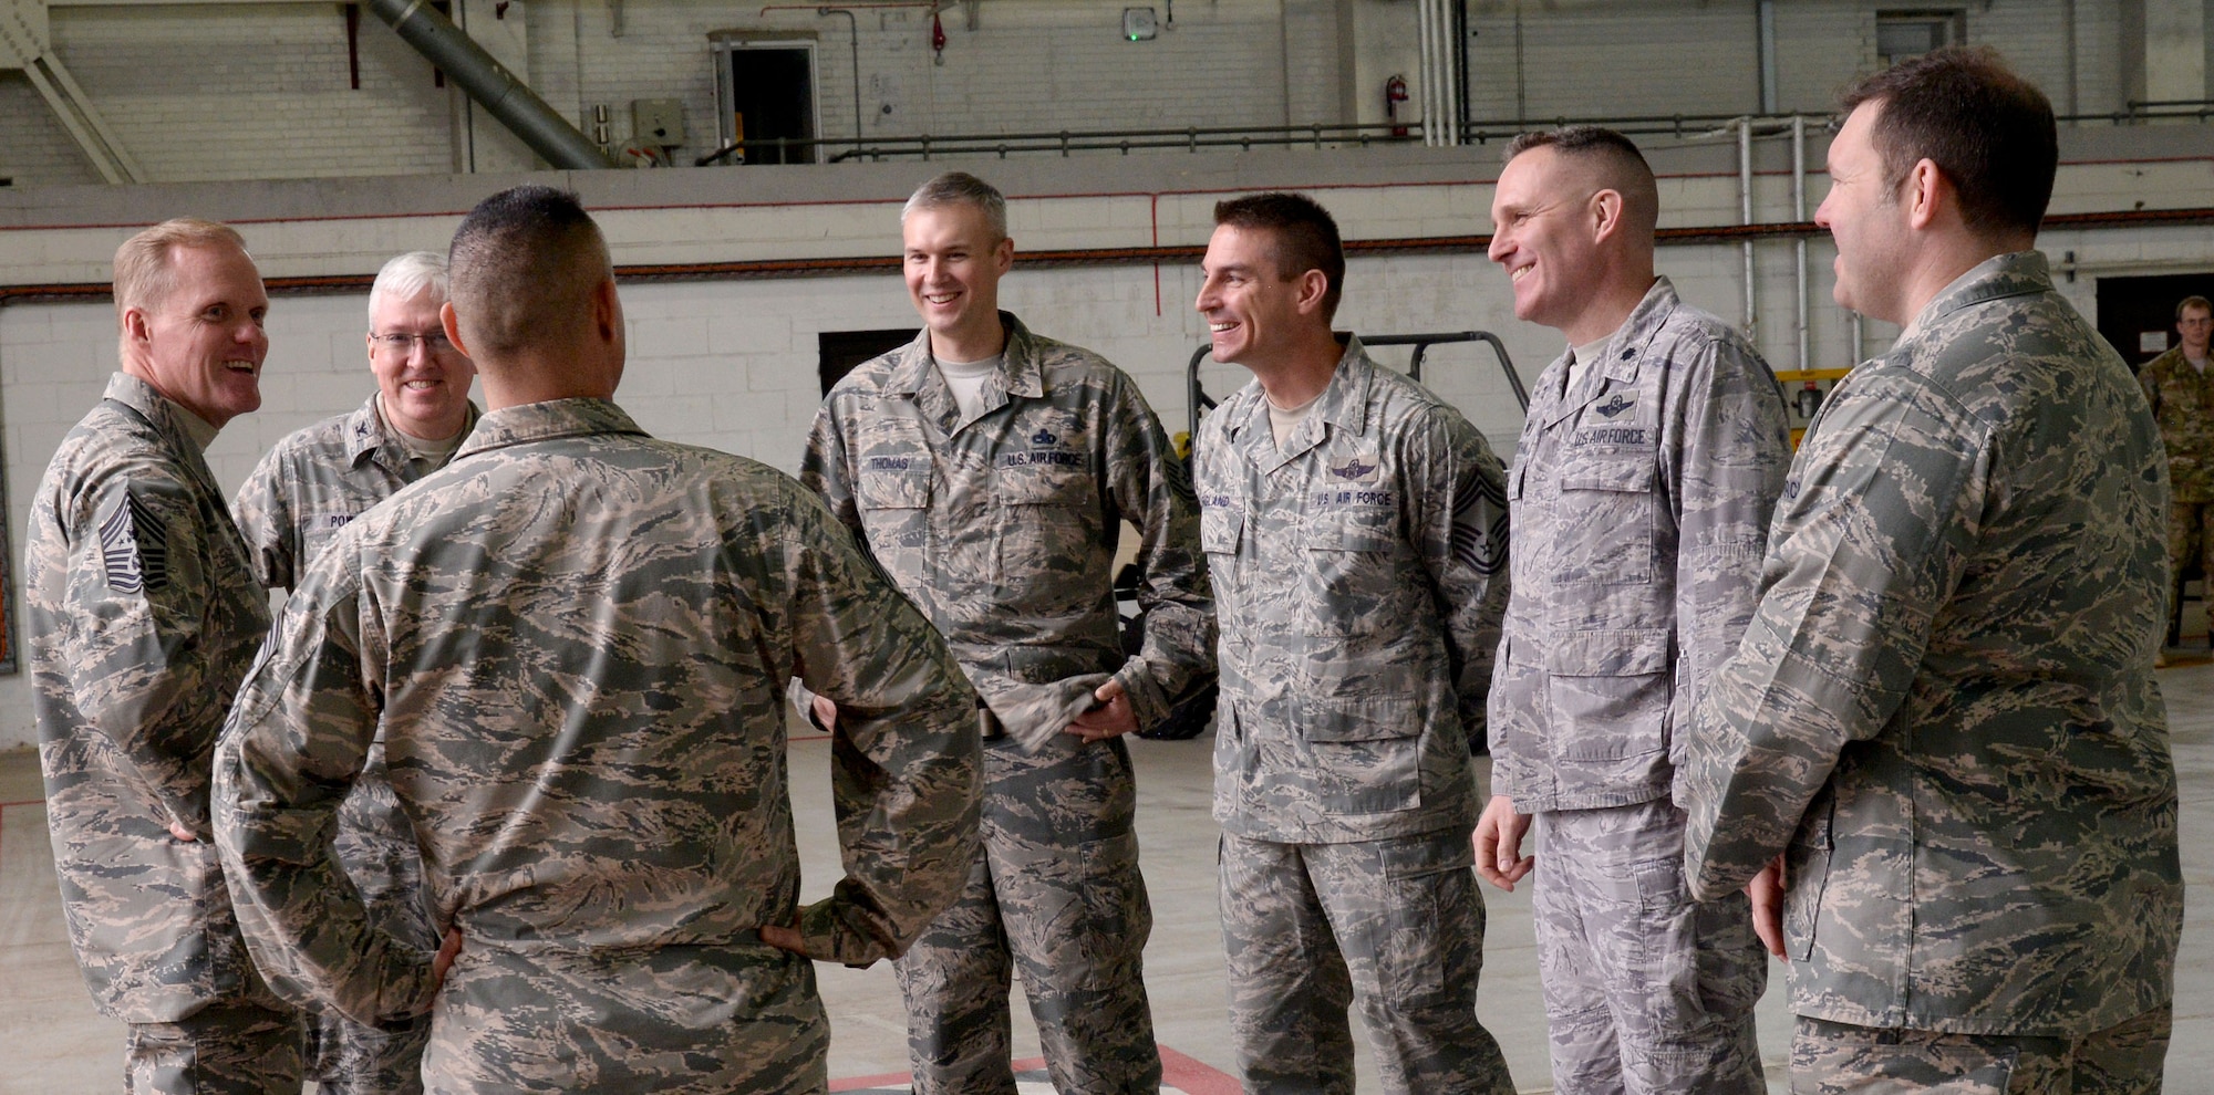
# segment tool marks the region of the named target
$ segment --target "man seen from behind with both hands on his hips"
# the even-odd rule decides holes
[[[272,984],[359,1022],[436,995],[432,1091],[821,1091],[790,951],[868,964],[952,900],[974,692],[797,482],[609,400],[622,303],[573,195],[494,195],[452,254],[445,330],[489,411],[310,562],[239,695],[215,792],[239,922]],[[795,672],[846,708],[850,874],[808,907]],[[452,927],[436,960],[370,925],[330,852],[379,732]]]

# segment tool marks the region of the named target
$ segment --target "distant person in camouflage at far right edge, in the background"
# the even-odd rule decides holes
[[[2168,449],[2168,571],[2183,575],[2196,560],[2214,582],[2214,376],[2207,376],[2214,303],[2185,296],[2176,305],[2176,334],[2183,341],[2137,369],[2137,383]],[[2181,582],[2172,577],[2170,617],[2179,593]]]

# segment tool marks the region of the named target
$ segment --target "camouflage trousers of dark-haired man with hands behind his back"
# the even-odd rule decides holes
[[[1351,1004],[1384,1091],[1514,1093],[1477,1022],[1483,898],[1466,830],[1342,845],[1224,834],[1222,949],[1249,1095],[1351,1095]]]

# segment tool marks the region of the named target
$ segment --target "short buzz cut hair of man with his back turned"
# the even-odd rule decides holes
[[[567,341],[615,274],[600,226],[569,190],[516,186],[476,204],[447,252],[447,285],[472,356]]]

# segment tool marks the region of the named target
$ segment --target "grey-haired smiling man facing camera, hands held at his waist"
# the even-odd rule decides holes
[[[983,847],[961,900],[897,964],[914,1091],[1014,1093],[1010,960],[1058,1091],[1158,1091],[1140,964],[1153,916],[1120,734],[1213,666],[1191,480],[1129,376],[999,310],[1014,261],[999,190],[941,175],[908,199],[901,234],[925,330],[830,392],[801,480],[987,703]],[[1147,608],[1127,659],[1109,573],[1125,518]]]

